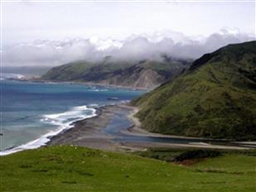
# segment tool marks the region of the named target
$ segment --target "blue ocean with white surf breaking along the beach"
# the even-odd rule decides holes
[[[72,122],[96,115],[95,108],[125,103],[143,90],[1,79],[1,151],[43,146]]]

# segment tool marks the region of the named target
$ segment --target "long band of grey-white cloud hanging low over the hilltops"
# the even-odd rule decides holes
[[[230,43],[255,40],[255,36],[238,30],[223,29],[208,37],[184,36],[178,32],[155,32],[133,35],[123,41],[96,36],[63,41],[33,41],[5,46],[3,65],[61,65],[75,60],[99,62],[111,55],[113,60],[160,60],[160,55],[196,59]]]

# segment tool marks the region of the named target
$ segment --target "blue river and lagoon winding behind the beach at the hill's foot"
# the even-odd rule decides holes
[[[136,142],[136,143],[168,143],[168,144],[200,144],[201,146],[207,145],[221,145],[221,146],[244,146],[249,148],[256,148],[255,143],[244,142],[229,142],[218,139],[205,139],[205,138],[189,138],[189,137],[157,137],[147,135],[137,135],[128,132],[129,127],[133,127],[133,122],[128,119],[128,110],[121,110],[116,113],[109,121],[107,127],[102,132],[114,137],[113,142]]]

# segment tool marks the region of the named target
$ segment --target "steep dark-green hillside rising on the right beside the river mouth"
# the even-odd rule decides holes
[[[150,132],[255,140],[256,41],[203,55],[186,73],[132,104]]]

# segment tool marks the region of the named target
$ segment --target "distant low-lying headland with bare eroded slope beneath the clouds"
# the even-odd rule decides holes
[[[97,64],[78,61],[52,68],[41,78],[153,89],[190,64],[186,60],[142,60],[136,64],[109,60]]]

